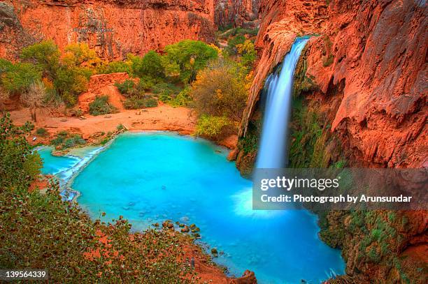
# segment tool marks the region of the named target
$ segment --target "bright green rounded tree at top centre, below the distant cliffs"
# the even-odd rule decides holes
[[[173,45],[166,45],[165,52],[162,63],[166,74],[179,77],[185,83],[194,81],[197,72],[218,56],[215,47],[200,40],[181,40]]]

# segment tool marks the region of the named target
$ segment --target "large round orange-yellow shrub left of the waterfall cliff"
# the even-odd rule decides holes
[[[191,95],[199,114],[241,121],[248,97],[248,77],[236,63],[219,60],[202,70]]]

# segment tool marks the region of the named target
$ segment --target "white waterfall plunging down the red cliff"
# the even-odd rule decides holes
[[[308,39],[296,39],[279,74],[272,73],[264,84],[267,97],[256,163],[259,169],[287,167],[294,69]]]

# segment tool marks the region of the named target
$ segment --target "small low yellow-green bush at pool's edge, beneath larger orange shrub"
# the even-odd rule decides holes
[[[202,115],[198,119],[196,134],[214,140],[220,140],[233,128],[233,124],[227,117],[213,117]]]

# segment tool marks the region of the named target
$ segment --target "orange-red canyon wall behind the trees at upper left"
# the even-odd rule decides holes
[[[185,38],[212,43],[214,31],[214,0],[0,1],[0,57],[10,59],[43,39],[123,59]]]

